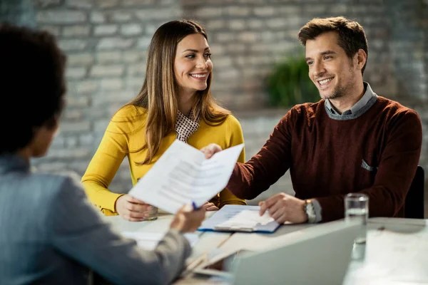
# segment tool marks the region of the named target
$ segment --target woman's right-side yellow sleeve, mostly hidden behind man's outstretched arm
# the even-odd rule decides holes
[[[228,121],[228,130],[227,133],[229,135],[229,144],[228,147],[233,147],[235,145],[240,145],[244,142],[244,135],[243,130],[240,126],[240,123],[238,119],[233,117],[232,115],[229,115]],[[240,156],[238,157],[238,162],[245,162],[245,148],[240,153]],[[245,199],[240,199],[233,195],[232,192],[230,192],[227,188],[222,190],[220,192],[220,204],[219,208],[223,207],[225,204],[242,204],[245,205],[247,202],[245,202]]]

